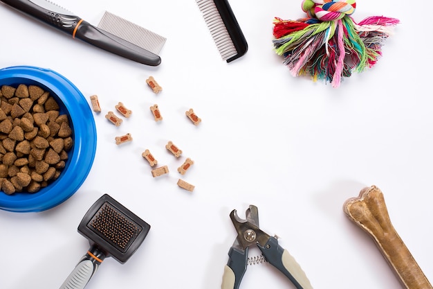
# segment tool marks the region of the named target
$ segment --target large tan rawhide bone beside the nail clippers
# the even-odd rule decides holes
[[[344,202],[344,213],[373,237],[383,256],[407,289],[432,289],[409,249],[389,219],[383,193],[376,186],[360,191],[358,198]]]

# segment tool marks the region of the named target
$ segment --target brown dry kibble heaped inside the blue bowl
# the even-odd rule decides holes
[[[68,116],[36,85],[0,91],[0,191],[36,193],[65,167],[73,147]]]

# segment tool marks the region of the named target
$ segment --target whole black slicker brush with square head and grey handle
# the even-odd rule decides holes
[[[78,232],[89,239],[90,249],[60,288],[84,288],[108,256],[125,263],[145,240],[149,229],[147,222],[109,195],[102,195],[78,226]]]

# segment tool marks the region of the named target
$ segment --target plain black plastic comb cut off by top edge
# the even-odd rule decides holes
[[[231,62],[248,50],[241,27],[227,0],[196,0],[223,60]]]

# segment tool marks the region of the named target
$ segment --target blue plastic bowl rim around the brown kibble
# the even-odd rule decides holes
[[[96,152],[96,128],[93,113],[82,93],[59,73],[39,67],[7,67],[0,69],[0,87],[20,84],[37,85],[49,91],[67,114],[73,130],[73,148],[62,173],[54,182],[37,193],[0,191],[0,209],[15,212],[45,211],[66,201],[82,185],[91,170]]]

